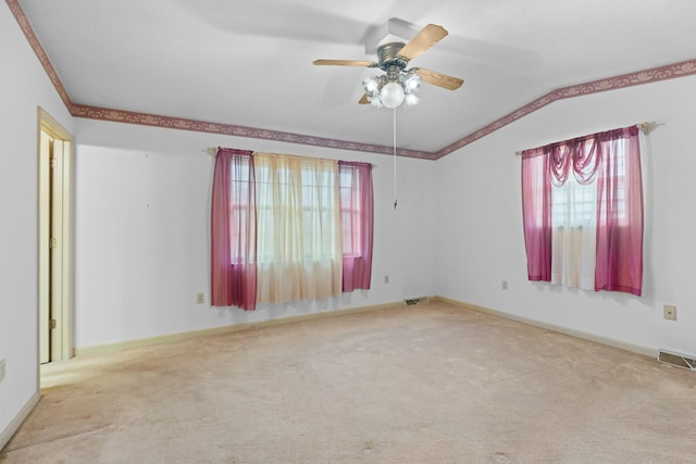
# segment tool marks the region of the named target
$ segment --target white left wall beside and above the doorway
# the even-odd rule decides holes
[[[0,7],[0,448],[38,393],[37,106],[72,118],[10,10]]]

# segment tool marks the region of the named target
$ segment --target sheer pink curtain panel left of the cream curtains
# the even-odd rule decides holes
[[[256,196],[250,151],[221,148],[211,211],[211,304],[256,309]]]

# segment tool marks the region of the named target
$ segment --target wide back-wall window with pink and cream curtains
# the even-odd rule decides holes
[[[217,156],[213,305],[250,310],[370,288],[371,165],[229,149]]]

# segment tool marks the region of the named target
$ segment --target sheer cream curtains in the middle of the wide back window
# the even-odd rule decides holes
[[[341,291],[338,163],[254,153],[259,302]]]

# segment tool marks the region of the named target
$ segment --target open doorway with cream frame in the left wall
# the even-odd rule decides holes
[[[73,137],[38,109],[39,362],[73,356]]]

